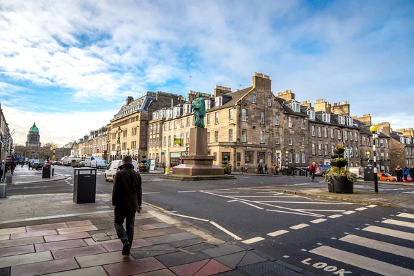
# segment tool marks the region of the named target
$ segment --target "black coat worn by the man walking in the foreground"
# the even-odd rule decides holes
[[[141,204],[141,175],[132,164],[119,166],[112,189],[112,205],[133,211],[138,210]]]

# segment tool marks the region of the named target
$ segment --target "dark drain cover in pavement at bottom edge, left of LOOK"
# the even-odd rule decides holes
[[[250,276],[300,276],[295,270],[270,261],[242,266],[239,270]]]

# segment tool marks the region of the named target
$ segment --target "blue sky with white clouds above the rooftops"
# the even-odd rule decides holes
[[[147,90],[252,85],[413,127],[413,1],[1,0],[0,103],[14,143],[59,146]],[[191,77],[190,77],[191,76]]]

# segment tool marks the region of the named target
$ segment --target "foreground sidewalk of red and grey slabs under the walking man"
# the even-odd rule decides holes
[[[121,249],[108,194],[92,204],[75,204],[72,194],[0,199],[2,276],[312,275],[147,205],[135,219],[131,255]]]

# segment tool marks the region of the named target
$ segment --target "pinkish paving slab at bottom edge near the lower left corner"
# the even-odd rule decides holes
[[[76,268],[79,268],[79,266],[73,258],[57,259],[48,262],[38,262],[36,264],[13,266],[10,274],[11,276],[43,275]]]

